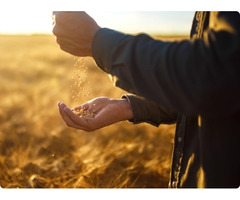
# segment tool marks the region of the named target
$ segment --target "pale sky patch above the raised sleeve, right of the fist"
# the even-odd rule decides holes
[[[147,32],[160,35],[190,33],[194,12],[108,11],[89,12],[99,25],[127,33]]]

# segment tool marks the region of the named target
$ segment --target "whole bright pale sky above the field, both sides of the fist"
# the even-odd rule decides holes
[[[188,34],[194,12],[164,11],[87,11],[101,27],[127,33]],[[0,33],[51,33],[51,11],[17,10],[0,12]]]

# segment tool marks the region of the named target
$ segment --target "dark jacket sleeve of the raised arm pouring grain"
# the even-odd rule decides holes
[[[182,114],[221,116],[240,109],[240,16],[210,17],[202,39],[164,42],[100,29],[97,65],[116,86]]]

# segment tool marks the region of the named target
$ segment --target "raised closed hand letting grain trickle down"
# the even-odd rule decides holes
[[[62,50],[75,56],[92,56],[92,41],[100,27],[87,13],[55,11],[53,25]]]

